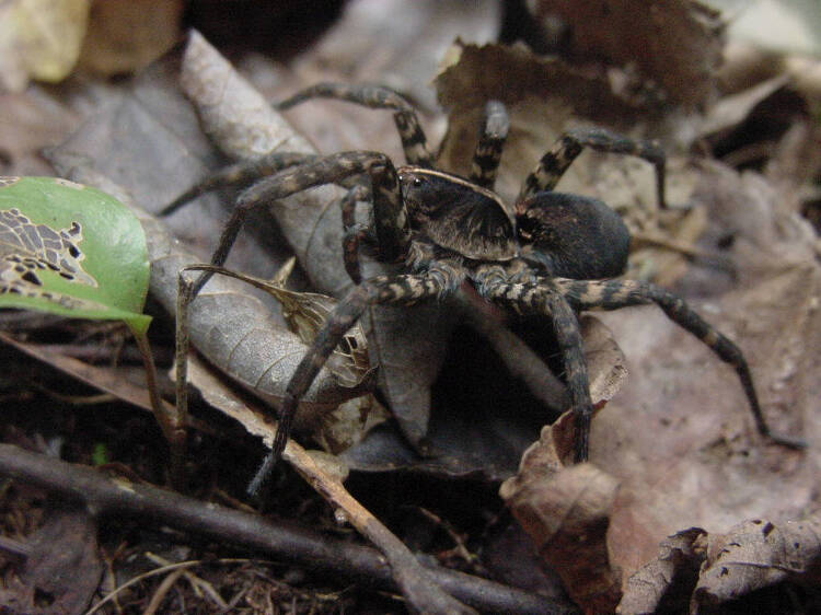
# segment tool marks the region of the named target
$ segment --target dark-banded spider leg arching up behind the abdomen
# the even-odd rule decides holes
[[[601,128],[573,130],[559,137],[553,148],[542,156],[533,172],[528,175],[516,199],[517,204],[536,193],[555,188],[567,167],[586,147],[600,152],[635,155],[651,163],[656,172],[656,194],[659,207],[667,207],[664,196],[667,155],[661,147],[654,141],[635,141]]]

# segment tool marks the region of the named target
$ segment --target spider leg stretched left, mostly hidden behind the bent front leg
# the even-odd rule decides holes
[[[198,184],[195,184],[159,212],[159,216],[171,216],[183,205],[194,200],[205,193],[228,186],[250,185],[261,177],[274,175],[289,166],[297,166],[316,160],[315,154],[294,152],[269,153],[256,160],[245,160],[218,170]]]

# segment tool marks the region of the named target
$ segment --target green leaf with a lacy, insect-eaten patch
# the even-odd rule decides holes
[[[148,282],[142,227],[118,200],[55,177],[0,177],[0,308],[144,333]]]

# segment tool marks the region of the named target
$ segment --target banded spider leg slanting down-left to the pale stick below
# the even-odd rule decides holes
[[[282,455],[300,398],[309,390],[331,352],[359,320],[362,312],[370,305],[385,303],[412,305],[424,299],[439,297],[442,293],[452,292],[461,279],[459,271],[448,266],[431,267],[429,271],[419,275],[379,276],[355,287],[339,301],[316,334],[311,348],[305,352],[288,383],[279,411],[279,427],[274,439],[274,446],[248,485],[250,494],[258,492]]]

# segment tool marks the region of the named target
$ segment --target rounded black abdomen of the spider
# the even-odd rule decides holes
[[[551,275],[577,280],[624,272],[631,235],[621,217],[594,198],[539,193],[516,205],[521,254]]]

